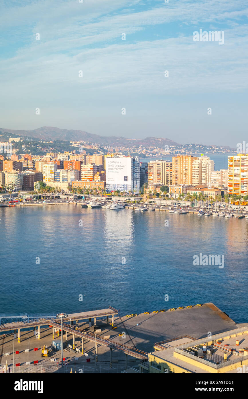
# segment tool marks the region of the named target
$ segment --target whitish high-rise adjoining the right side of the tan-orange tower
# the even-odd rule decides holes
[[[209,157],[198,157],[192,164],[192,183],[211,184],[211,172],[214,171],[215,163]]]

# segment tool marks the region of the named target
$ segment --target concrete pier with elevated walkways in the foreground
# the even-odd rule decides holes
[[[158,345],[185,334],[190,339],[200,339],[209,330],[215,334],[234,328],[236,323],[212,303],[122,316],[117,309],[109,306],[71,313],[62,320],[64,359],[73,362],[77,370],[82,365],[90,370],[88,363],[93,361],[97,372],[100,365],[102,370],[117,372],[117,364],[119,370],[136,364],[140,372],[146,372],[148,354],[161,349]],[[0,316],[0,368],[8,361],[8,365],[14,364],[27,372],[27,366],[31,367],[35,362],[43,372],[55,372],[58,367],[51,363],[53,359],[60,360],[61,351],[52,350],[51,359],[40,359],[40,353],[44,344],[50,346],[54,339],[61,340],[60,329],[61,319],[55,315]],[[17,369],[16,372],[21,371]]]

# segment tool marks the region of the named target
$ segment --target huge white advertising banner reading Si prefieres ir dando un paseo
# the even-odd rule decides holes
[[[106,184],[132,184],[132,158],[105,158]]]

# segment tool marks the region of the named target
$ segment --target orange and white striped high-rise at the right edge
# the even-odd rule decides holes
[[[248,154],[228,156],[228,194],[248,195]]]

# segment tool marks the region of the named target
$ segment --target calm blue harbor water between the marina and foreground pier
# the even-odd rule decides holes
[[[214,302],[247,321],[246,219],[80,205],[0,208],[0,218],[1,314]],[[224,255],[223,269],[193,266],[199,253]]]

